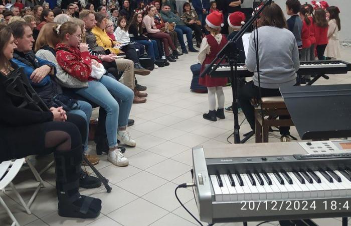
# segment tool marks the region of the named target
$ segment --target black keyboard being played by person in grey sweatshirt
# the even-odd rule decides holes
[[[247,70],[247,68],[244,66],[244,63],[239,63],[237,70],[239,77],[253,76],[253,73]],[[300,62],[300,69],[297,71],[297,74],[346,74],[347,71],[351,71],[351,63],[341,60],[302,61]],[[211,76],[229,77],[230,74],[228,72],[230,72],[229,64],[221,64]]]

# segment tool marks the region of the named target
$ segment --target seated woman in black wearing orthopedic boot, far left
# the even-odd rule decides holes
[[[30,29],[28,32],[31,32]],[[49,111],[33,110],[28,105],[19,107],[27,99],[7,92],[15,89],[8,85],[8,79],[18,69],[16,64],[10,63],[12,53],[17,48],[11,33],[10,28],[0,25],[0,101],[3,106],[0,112],[0,162],[54,153],[58,214],[63,217],[95,218],[100,214],[101,200],[79,193],[82,175],[77,170],[82,162],[79,129],[84,130],[84,119],[68,117],[62,107],[52,107]],[[64,122],[67,118],[74,119],[74,122]]]

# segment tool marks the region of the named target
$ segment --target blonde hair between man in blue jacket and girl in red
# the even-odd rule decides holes
[[[54,47],[59,43],[59,37],[56,33],[56,25],[57,23],[46,23],[38,34],[37,41],[35,43],[35,52],[43,48],[43,46],[51,46]]]

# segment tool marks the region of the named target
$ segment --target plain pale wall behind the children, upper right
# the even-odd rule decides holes
[[[316,0],[317,2],[319,0]],[[244,0],[244,4],[242,7],[252,7],[252,2],[253,1],[248,1],[248,0]],[[259,1],[256,1],[259,2]],[[275,3],[278,4],[284,14],[285,17],[288,18],[288,16],[286,15],[285,12],[285,2],[286,0],[275,0]],[[306,1],[300,0],[301,4],[305,4]],[[307,1],[308,3],[310,3],[310,1]],[[340,10],[340,20],[341,20],[341,31],[340,31],[340,40],[346,40],[347,42],[351,42],[351,29],[350,25],[351,25],[351,1],[350,0],[327,0],[326,2],[328,2],[329,6],[337,6]]]

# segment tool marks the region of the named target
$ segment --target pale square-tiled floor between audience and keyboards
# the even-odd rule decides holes
[[[351,62],[351,48],[342,47],[343,59]],[[227,118],[217,122],[206,121],[202,114],[208,111],[207,94],[190,92],[192,74],[190,65],[196,62],[197,54],[190,53],[180,57],[178,62],[168,67],[158,68],[148,76],[138,76],[140,84],[147,85],[147,102],[134,104],[130,118],[135,125],[129,128],[137,142],[136,148],[127,148],[128,167],[116,167],[101,156],[96,166],[109,179],[112,192],[106,193],[103,187],[83,189],[81,193],[102,199],[101,214],[97,219],[69,219],[58,216],[55,195],[54,168],[48,170],[43,178],[46,188],[39,192],[32,211],[28,215],[19,205],[11,191],[1,194],[8,203],[21,225],[125,225],[125,226],[172,226],[195,225],[196,221],[181,207],[174,197],[177,184],[191,182],[191,148],[205,143],[227,143],[233,130],[233,117],[226,112]],[[317,84],[351,83],[351,73],[331,75],[329,80],[319,80]],[[225,87],[226,105],[232,101],[230,87]],[[327,107],[327,106],[325,106]],[[93,114],[97,116],[97,112]],[[240,122],[244,115],[239,115]],[[240,133],[249,132],[246,121]],[[294,128],[292,135],[297,136]],[[233,142],[233,137],[229,139]],[[270,141],[278,141],[278,134],[271,134]],[[251,139],[249,142],[254,142]],[[95,145],[90,143],[90,152]],[[43,160],[44,161],[44,160]],[[42,162],[43,162],[42,161]],[[29,187],[33,176],[28,170],[21,172],[16,184]],[[28,200],[30,193],[19,189]],[[191,189],[180,189],[179,196],[195,214],[197,207]],[[0,225],[9,225],[10,218],[3,208],[0,209]],[[340,218],[316,219],[321,226],[340,225]],[[249,225],[256,225],[251,222]],[[277,222],[272,223],[277,225]],[[242,225],[226,223],[216,225]],[[271,225],[266,223],[263,225]],[[351,223],[350,223],[351,225]]]

